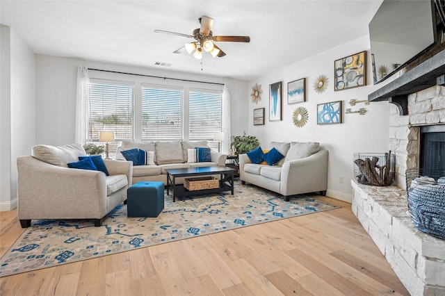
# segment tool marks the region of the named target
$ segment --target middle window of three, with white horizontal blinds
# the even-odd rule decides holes
[[[142,88],[142,140],[182,138],[182,90]]]

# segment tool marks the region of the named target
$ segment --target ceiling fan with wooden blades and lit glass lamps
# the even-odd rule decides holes
[[[202,51],[209,52],[213,58],[216,56],[218,56],[218,58],[225,56],[225,52],[217,47],[214,42],[250,42],[249,36],[213,36],[211,26],[213,25],[214,20],[211,17],[206,17],[204,15],[200,17],[198,21],[200,22],[201,26],[200,28],[195,28],[195,30],[193,30],[193,35],[163,30],[154,30],[154,32],[194,38],[196,41],[186,43],[184,47],[173,51],[173,53],[180,54],[185,49],[188,54],[193,54],[193,56],[198,60],[202,59]]]

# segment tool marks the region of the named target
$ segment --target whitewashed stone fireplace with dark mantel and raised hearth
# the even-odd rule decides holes
[[[436,82],[444,77],[445,51],[423,64],[369,95],[397,106],[389,120],[396,181],[378,187],[352,180],[352,208],[411,295],[445,295],[445,240],[416,229],[407,209],[405,175],[421,163],[421,129],[445,126],[445,85]]]

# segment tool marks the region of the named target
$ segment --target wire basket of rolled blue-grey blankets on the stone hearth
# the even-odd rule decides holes
[[[406,185],[414,226],[445,240],[445,170],[406,170]]]

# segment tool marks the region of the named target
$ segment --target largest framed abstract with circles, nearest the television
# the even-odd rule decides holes
[[[334,90],[366,85],[366,51],[334,62]]]

